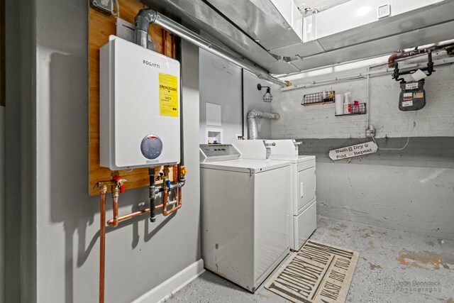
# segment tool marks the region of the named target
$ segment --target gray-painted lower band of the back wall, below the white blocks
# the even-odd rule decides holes
[[[333,162],[329,150],[361,139],[301,139],[316,155],[317,211],[323,216],[454,239],[454,138],[411,138],[401,151]],[[406,138],[378,139],[399,148]]]

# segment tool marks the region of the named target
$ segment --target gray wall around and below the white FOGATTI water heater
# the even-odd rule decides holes
[[[10,16],[18,20],[21,7],[12,2]],[[21,44],[28,41],[35,55],[17,56],[16,61],[11,57],[9,62],[22,65],[23,73],[17,75],[10,68],[9,75],[35,83],[36,97],[30,86],[9,83],[9,99],[19,99],[8,108],[7,123],[12,127],[6,133],[11,143],[6,154],[11,164],[6,168],[12,179],[6,210],[14,218],[6,228],[7,302],[96,302],[99,197],[89,197],[87,191],[88,6],[86,1],[48,0],[36,7],[27,2],[31,11],[28,16],[25,9],[24,18],[30,17],[28,33],[35,31],[36,40],[33,35],[11,39],[18,39],[16,47],[24,52],[28,45]],[[28,61],[31,58],[36,62]],[[155,224],[141,216],[107,228],[106,302],[131,302],[200,259],[199,51],[194,45],[183,44],[182,66],[188,169],[184,205],[175,215],[159,216]],[[24,96],[23,91],[32,94]],[[31,152],[21,158],[21,148]],[[13,165],[18,165],[15,172]],[[120,213],[147,202],[148,188],[128,190],[121,195]]]

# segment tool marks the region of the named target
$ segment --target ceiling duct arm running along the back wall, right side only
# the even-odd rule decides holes
[[[304,18],[304,42],[271,50],[292,57],[299,70],[374,57],[454,37],[454,1],[352,0]]]

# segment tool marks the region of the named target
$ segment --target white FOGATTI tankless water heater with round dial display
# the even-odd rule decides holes
[[[111,36],[100,50],[99,155],[124,170],[179,162],[179,62]]]

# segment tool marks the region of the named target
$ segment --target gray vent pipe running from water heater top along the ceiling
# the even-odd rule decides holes
[[[275,77],[272,77],[266,70],[254,65],[252,62],[242,59],[236,55],[228,53],[223,48],[218,47],[211,41],[206,40],[205,38],[197,35],[193,31],[185,28],[181,24],[173,21],[170,18],[154,11],[153,9],[141,9],[137,16],[135,16],[135,43],[138,45],[142,45],[143,47],[147,47],[148,45],[148,26],[150,23],[155,23],[157,26],[161,28],[165,28],[167,31],[178,35],[184,40],[189,41],[197,45],[199,48],[203,48],[204,50],[217,55],[225,60],[232,62],[239,67],[244,68],[250,72],[253,72],[257,77],[260,79],[264,79],[266,81],[275,83],[281,87],[287,87],[287,83],[279,80]]]

